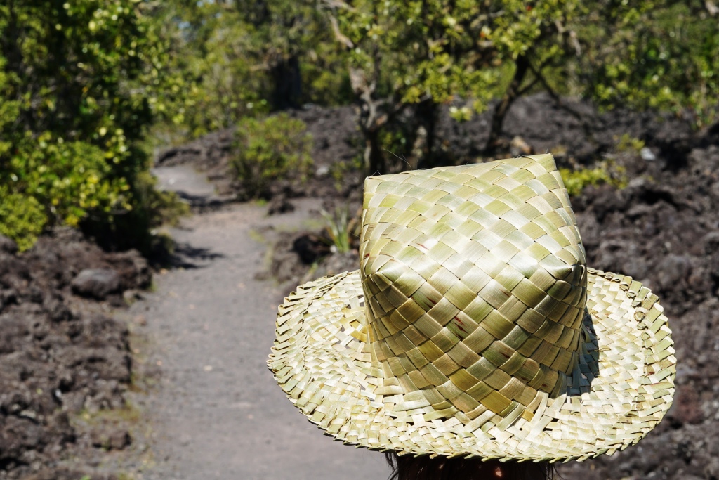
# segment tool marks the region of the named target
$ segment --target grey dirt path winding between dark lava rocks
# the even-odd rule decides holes
[[[189,167],[156,171],[187,196],[212,186]],[[196,215],[173,230],[185,268],[157,276],[155,293],[131,307],[162,363],[147,399],[154,466],[142,479],[386,479],[383,456],[333,442],[296,411],[265,364],[282,301],[278,287],[255,280],[263,226],[295,228],[313,201],[291,214],[239,204]]]

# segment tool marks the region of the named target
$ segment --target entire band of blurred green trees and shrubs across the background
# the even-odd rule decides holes
[[[457,122],[491,109],[491,155],[539,91],[701,129],[719,115],[718,19],[713,0],[6,0],[0,234],[27,249],[70,225],[148,252],[175,212],[153,145],[239,125],[234,167],[262,191],[311,164],[296,121],[265,119],[304,104],[357,105],[366,173],[400,161],[393,142],[418,148],[413,168],[440,162],[444,105]]]

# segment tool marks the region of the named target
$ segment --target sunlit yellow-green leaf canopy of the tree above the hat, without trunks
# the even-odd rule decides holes
[[[378,96],[416,104],[459,95],[481,111],[498,94],[497,67],[533,47],[565,3],[357,0],[335,14],[352,66],[376,79]]]

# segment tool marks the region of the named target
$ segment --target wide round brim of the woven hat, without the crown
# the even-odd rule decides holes
[[[421,409],[391,411],[375,393],[381,371],[372,366],[362,327],[359,271],[305,284],[285,299],[268,365],[293,404],[347,444],[500,460],[611,454],[637,443],[664,417],[676,358],[656,295],[628,276],[588,271],[580,366],[567,376],[563,394],[539,392],[521,416],[487,410],[463,424]]]

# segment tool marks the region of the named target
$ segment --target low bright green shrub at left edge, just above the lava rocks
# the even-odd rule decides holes
[[[43,133],[17,142],[0,168],[0,232],[21,250],[45,227],[81,227],[109,249],[152,248],[152,227],[188,213],[149,171],[116,176],[100,148]],[[0,155],[0,158],[2,156]],[[132,184],[129,183],[132,181]]]

